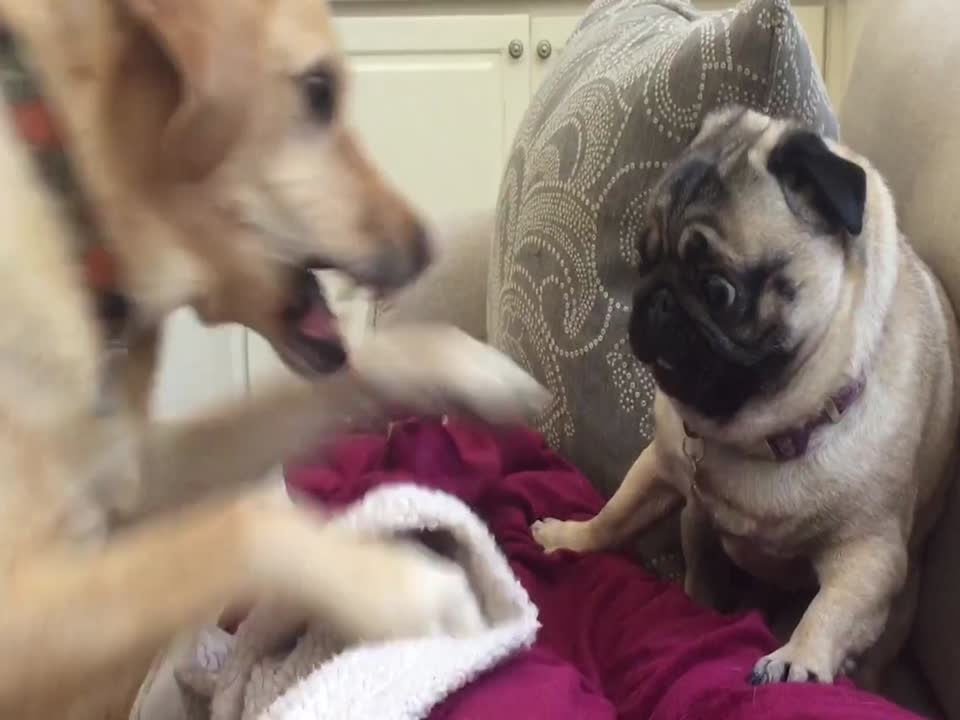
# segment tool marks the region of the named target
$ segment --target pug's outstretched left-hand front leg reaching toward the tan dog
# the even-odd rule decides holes
[[[657,476],[656,448],[650,443],[596,517],[581,522],[538,520],[531,530],[547,552],[596,552],[623,544],[679,501],[679,494]]]

